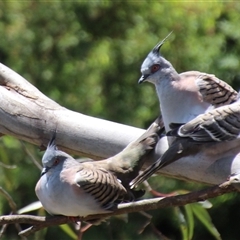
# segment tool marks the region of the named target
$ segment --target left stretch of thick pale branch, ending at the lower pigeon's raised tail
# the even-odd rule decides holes
[[[144,132],[70,111],[3,64],[0,64],[0,101],[1,134],[46,146],[57,128],[57,144],[61,149],[93,159],[118,153]]]

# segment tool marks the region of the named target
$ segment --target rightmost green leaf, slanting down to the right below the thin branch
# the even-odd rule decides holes
[[[194,215],[200,222],[207,228],[207,230],[217,239],[221,240],[220,233],[212,223],[211,217],[207,210],[203,208],[199,203],[191,204]]]

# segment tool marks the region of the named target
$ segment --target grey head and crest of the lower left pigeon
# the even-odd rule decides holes
[[[71,158],[67,153],[58,150],[56,145],[56,132],[54,132],[50,142],[48,143],[47,149],[42,158],[43,170],[41,175],[47,173],[50,169],[56,168],[61,169],[64,161]]]

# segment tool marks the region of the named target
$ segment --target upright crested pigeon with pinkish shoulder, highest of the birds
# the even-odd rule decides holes
[[[178,74],[159,52],[166,38],[145,58],[138,81],[155,85],[166,131],[170,130],[170,123],[186,123],[209,110],[209,107],[216,108],[236,101],[238,93],[212,74],[198,71]]]

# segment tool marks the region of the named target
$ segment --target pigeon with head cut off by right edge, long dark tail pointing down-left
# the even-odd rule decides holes
[[[167,135],[176,139],[158,161],[130,183],[132,188],[168,164],[185,156],[194,156],[205,149],[214,149],[215,154],[218,154],[224,148],[228,154],[228,151],[231,152],[231,149],[238,145],[240,152],[240,99],[230,105],[200,114],[186,124],[174,123],[170,124],[170,127],[172,130]],[[222,142],[225,142],[225,146]]]

